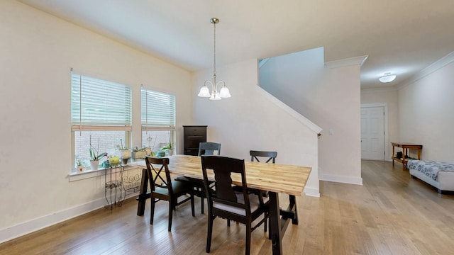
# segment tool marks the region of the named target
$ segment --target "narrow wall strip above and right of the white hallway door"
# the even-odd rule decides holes
[[[384,91],[361,91],[361,104],[375,104],[375,103],[386,103],[387,104],[387,123],[388,130],[385,130],[388,134],[388,140],[384,141],[384,145],[387,147],[387,154],[384,155],[384,160],[391,161],[392,146],[391,142],[399,142],[399,92],[397,89],[384,90]]]

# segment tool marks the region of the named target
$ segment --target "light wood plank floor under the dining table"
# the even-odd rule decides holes
[[[454,195],[411,179],[402,165],[362,162],[363,186],[321,181],[321,198],[297,198],[299,225],[289,225],[284,254],[453,254]],[[286,196],[279,197],[282,202]],[[167,232],[167,203],[157,203],[150,225],[137,203],[101,209],[0,244],[0,254],[206,254],[206,215],[189,203],[177,208]],[[243,225],[216,219],[211,254],[244,254]],[[271,254],[262,227],[251,254]]]

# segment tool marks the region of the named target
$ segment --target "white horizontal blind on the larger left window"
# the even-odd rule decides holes
[[[71,74],[71,122],[73,130],[131,130],[130,86]],[[102,128],[105,129],[105,128]]]

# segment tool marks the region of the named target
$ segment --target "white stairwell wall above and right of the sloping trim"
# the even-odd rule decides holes
[[[272,57],[260,68],[260,86],[323,129],[321,180],[362,184],[360,64],[328,68],[323,47]]]

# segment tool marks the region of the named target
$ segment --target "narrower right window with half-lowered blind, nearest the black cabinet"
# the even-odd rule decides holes
[[[172,142],[175,147],[175,96],[141,90],[142,146],[153,152]]]

